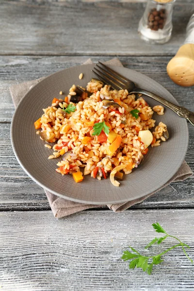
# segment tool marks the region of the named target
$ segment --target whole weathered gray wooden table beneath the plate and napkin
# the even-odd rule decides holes
[[[182,88],[166,65],[185,37],[193,0],[177,0],[173,36],[151,46],[137,35],[146,0],[0,1],[0,290],[194,290],[194,266],[180,249],[152,275],[129,270],[128,245],[143,251],[159,221],[192,248],[194,177],[173,183],[122,213],[87,210],[56,220],[46,195],[21,169],[10,142],[14,105],[9,86],[80,65],[119,57],[124,66],[161,83],[194,111],[194,87]],[[194,170],[194,128],[186,161]],[[172,241],[160,248],[167,248]],[[152,250],[156,252],[159,247]]]

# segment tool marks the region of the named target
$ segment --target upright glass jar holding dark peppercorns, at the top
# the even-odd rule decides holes
[[[164,44],[171,38],[173,4],[176,0],[148,0],[138,33],[150,44]]]

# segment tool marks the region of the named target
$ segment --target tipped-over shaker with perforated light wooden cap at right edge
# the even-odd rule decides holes
[[[184,44],[168,63],[167,73],[180,86],[194,85],[194,14],[187,24]]]

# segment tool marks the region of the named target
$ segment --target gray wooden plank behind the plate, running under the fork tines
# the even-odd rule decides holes
[[[10,122],[14,113],[14,105],[9,86],[19,82],[48,76],[59,70],[81,65],[88,57],[0,57],[0,122]],[[107,61],[111,57],[92,57],[94,62]],[[134,69],[161,83],[178,100],[180,105],[194,111],[193,87],[183,88],[170,80],[166,73],[166,65],[170,57],[119,57],[125,67]]]

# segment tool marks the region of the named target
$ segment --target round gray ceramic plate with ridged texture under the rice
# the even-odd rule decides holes
[[[140,88],[158,94],[178,104],[175,98],[160,84],[133,70],[111,66],[115,71],[134,81]],[[165,108],[165,114],[154,114],[156,124],[160,121],[168,127],[170,138],[161,146],[150,148],[144,162],[125,176],[119,187],[110,179],[85,176],[75,183],[72,175],[62,176],[55,169],[58,159],[48,160],[52,150],[44,146],[36,134],[33,123],[42,114],[42,108],[51,104],[59,92],[68,94],[72,84],[85,86],[91,79],[93,65],[81,65],[57,72],[34,86],[20,101],[11,126],[11,140],[16,158],[25,172],[41,187],[65,199],[88,204],[122,203],[149,194],[166,183],[178,170],[186,155],[188,128],[185,119]],[[80,73],[83,79],[79,80]],[[145,97],[150,106],[159,104]]]

